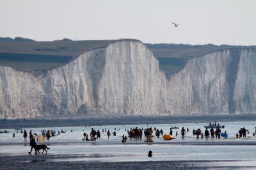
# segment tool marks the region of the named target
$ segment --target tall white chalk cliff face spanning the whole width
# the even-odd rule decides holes
[[[223,50],[165,75],[143,43],[120,41],[54,70],[0,66],[0,117],[252,113],[255,56],[253,50]]]

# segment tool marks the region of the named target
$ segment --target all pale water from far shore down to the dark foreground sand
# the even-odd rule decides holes
[[[211,122],[214,123],[214,122]],[[217,122],[224,125],[221,132],[227,132],[228,138],[225,139],[211,139],[205,140],[196,139],[193,135],[193,129],[200,128],[204,132],[204,126],[209,123],[180,123],[180,124],[143,124],[143,125],[102,125],[102,126],[83,126],[83,127],[39,127],[26,128],[28,133],[42,134],[42,130],[55,130],[60,135],[51,137],[49,141],[45,141],[50,150],[47,154],[63,155],[62,158],[56,157],[55,162],[58,161],[86,161],[86,162],[138,162],[138,161],[164,161],[164,160],[218,160],[231,161],[232,166],[241,166],[246,164],[250,166],[256,165],[256,137],[255,133],[256,122],[254,121],[237,121],[237,122]],[[146,143],[143,139],[140,141],[130,140],[127,131],[131,128],[157,128],[163,130],[163,134],[169,134],[171,127],[179,127],[173,129],[173,137],[170,141],[164,141],[163,135],[157,138],[155,134],[152,143]],[[186,132],[185,139],[180,135],[181,128]],[[96,141],[83,141],[83,134],[89,134],[92,130],[100,130],[100,139]],[[248,134],[246,137],[237,138],[236,134],[240,128],[246,128]],[[106,129],[106,131],[105,131]],[[7,130],[9,133],[0,134],[0,155],[28,155],[30,151],[29,139],[24,141],[23,134],[20,130],[15,129],[1,129]],[[65,133],[61,133],[63,130]],[[108,139],[106,132],[110,130],[111,136]],[[116,132],[116,136],[113,132]],[[178,135],[175,136],[176,132]],[[15,137],[13,137],[13,133]],[[155,133],[155,132],[154,132]],[[127,135],[127,142],[122,143],[122,135]],[[148,151],[152,150],[153,157],[147,157]],[[64,155],[79,155],[79,157],[64,157]],[[52,160],[53,161],[53,160]],[[227,162],[223,164],[228,164]]]

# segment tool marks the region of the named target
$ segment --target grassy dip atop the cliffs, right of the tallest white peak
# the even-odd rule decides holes
[[[211,54],[218,50],[224,49],[241,49],[250,48],[256,49],[255,46],[232,46],[232,45],[187,45],[187,44],[147,44],[148,49],[150,49],[154,56],[159,61],[160,70],[168,73],[177,73],[191,58],[196,58],[204,56],[206,54]]]

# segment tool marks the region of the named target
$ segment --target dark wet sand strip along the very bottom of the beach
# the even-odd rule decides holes
[[[80,157],[77,155],[76,157]],[[152,161],[145,162],[55,162],[70,155],[26,155],[1,157],[1,169],[255,169],[255,162],[229,161]],[[245,163],[245,164],[244,164]]]

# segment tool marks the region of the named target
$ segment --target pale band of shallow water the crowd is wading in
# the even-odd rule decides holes
[[[70,143],[76,141],[82,141],[83,138],[83,133],[86,132],[86,134],[89,134],[90,136],[90,131],[92,128],[94,128],[95,130],[100,130],[100,134],[101,137],[100,139],[97,139],[97,142],[104,142],[104,143],[108,143],[108,142],[117,142],[119,143],[122,139],[122,135],[127,135],[127,132],[125,132],[125,128],[127,128],[128,130],[130,130],[130,128],[147,128],[147,127],[156,127],[159,130],[163,129],[164,134],[169,134],[170,132],[170,127],[180,127],[179,129],[173,129],[173,136],[175,137],[175,133],[176,131],[179,133],[179,135],[177,135],[177,137],[175,137],[176,141],[196,141],[196,137],[195,135],[193,135],[193,129],[198,129],[200,128],[203,132],[205,130],[204,126],[208,125],[209,123],[182,123],[182,124],[156,124],[156,125],[108,125],[108,126],[93,126],[93,127],[42,127],[42,128],[26,128],[25,130],[29,133],[30,130],[32,130],[33,133],[36,134],[41,134],[41,130],[55,130],[56,132],[60,131],[60,130],[64,130],[66,131],[66,133],[60,134],[56,137],[51,137],[50,141],[54,141],[54,142],[63,142],[63,141],[70,141]],[[220,122],[220,125],[225,125],[225,128],[221,129],[221,132],[227,131],[228,134],[228,141],[256,141],[256,137],[253,137],[252,132],[255,132],[255,127],[256,127],[256,123],[254,121],[244,121],[244,122]],[[180,136],[180,129],[181,127],[184,128],[189,128],[189,132],[187,132],[186,136],[185,136],[185,140],[181,139]],[[238,132],[238,130],[240,128],[245,127],[246,129],[249,130],[250,134],[247,134],[246,138],[241,138],[241,139],[237,139],[236,138],[236,134]],[[116,136],[111,135],[110,139],[108,139],[108,136],[106,134],[106,132],[102,132],[102,130],[104,129],[108,131],[110,130],[111,132],[115,131],[116,132]],[[116,130],[115,130],[116,129]],[[120,129],[120,130],[119,130]],[[17,130],[14,129],[0,129],[0,130],[8,130],[8,134],[0,134],[0,143],[22,143],[24,142],[24,138],[23,138],[23,134],[20,134],[20,130],[18,130],[19,132],[17,133]],[[24,130],[24,129],[23,129]],[[71,130],[73,132],[71,132]],[[12,137],[12,134],[15,133],[15,137]],[[154,134],[153,134],[154,135]],[[143,138],[144,140],[144,138]],[[200,139],[201,140],[201,139]],[[221,138],[221,140],[225,140],[223,138]],[[29,139],[28,139],[29,141]],[[127,143],[134,143],[134,141],[127,141]],[[142,142],[142,141],[141,141]],[[157,139],[156,137],[154,137],[154,142],[163,142],[163,137],[161,137],[160,139]],[[46,144],[48,143],[45,142]]]

